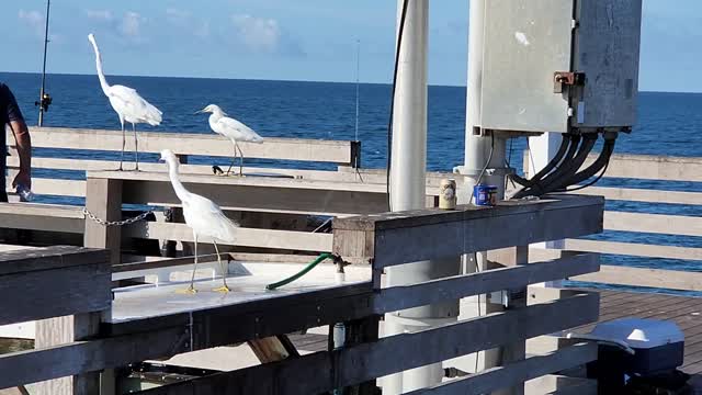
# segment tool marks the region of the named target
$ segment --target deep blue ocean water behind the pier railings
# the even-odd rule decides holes
[[[41,76],[0,72],[0,81],[4,81],[12,88],[27,122],[35,124],[37,111],[34,102],[38,97]],[[212,133],[208,131],[206,116],[194,115],[194,112],[206,104],[215,103],[231,116],[268,137],[356,138],[354,135],[354,83],[116,76],[109,77],[109,81],[137,89],[143,97],[163,111],[162,125],[141,126],[143,132]],[[120,128],[117,116],[100,90],[95,76],[49,75],[47,91],[54,98],[54,103],[46,114],[45,125]],[[389,97],[390,87],[387,84],[363,83],[360,86],[358,138],[362,142],[363,167],[385,167]],[[463,163],[464,123],[465,88],[430,87],[428,169],[450,171],[454,166]],[[518,169],[521,168],[524,147],[523,138],[514,139],[511,144],[510,161]],[[638,123],[633,133],[620,136],[615,151],[702,157],[702,94],[642,92]],[[39,149],[35,155],[66,156],[67,153],[58,149]],[[114,158],[114,155],[109,153],[83,153],[81,156]],[[193,162],[210,163],[212,159],[195,158]],[[247,166],[265,165],[270,162],[247,160]],[[294,166],[310,167],[309,163],[294,163]],[[58,174],[66,178],[80,177],[73,172],[35,172],[35,177]],[[601,184],[702,192],[702,183],[693,182],[605,178]],[[608,208],[702,216],[702,206],[608,202]],[[593,238],[688,247],[702,246],[699,237],[669,237],[653,234],[607,232]],[[702,270],[700,262],[691,261],[605,257],[605,262]]]

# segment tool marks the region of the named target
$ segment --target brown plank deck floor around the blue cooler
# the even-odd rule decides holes
[[[601,291],[600,295],[600,323],[621,317],[672,319],[676,321],[686,336],[682,371],[693,375],[702,374],[702,297],[612,291]],[[595,324],[591,324],[576,330],[587,332]],[[327,336],[325,335],[293,335],[291,339],[299,350],[321,351],[327,349]]]

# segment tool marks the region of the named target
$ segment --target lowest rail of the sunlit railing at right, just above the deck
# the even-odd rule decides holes
[[[702,273],[691,271],[603,266],[598,273],[578,275],[571,280],[668,290],[702,291]]]

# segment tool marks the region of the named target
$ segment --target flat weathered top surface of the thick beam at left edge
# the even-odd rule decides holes
[[[0,279],[4,274],[103,263],[106,259],[105,250],[72,246],[0,252]]]

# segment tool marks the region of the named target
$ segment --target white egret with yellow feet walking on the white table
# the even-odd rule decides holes
[[[168,163],[168,176],[176,191],[176,195],[183,205],[183,216],[185,224],[193,230],[193,239],[195,240],[195,264],[193,267],[193,275],[190,280],[190,286],[186,293],[195,293],[193,285],[195,281],[195,270],[197,269],[197,239],[201,236],[212,238],[217,252],[217,262],[222,268],[222,281],[224,285],[216,289],[217,292],[229,292],[227,286],[227,270],[219,258],[219,248],[216,240],[234,242],[238,225],[227,218],[218,205],[207,198],[189,192],[180,182],[178,177],[178,158],[170,149],[161,151],[161,160]]]

